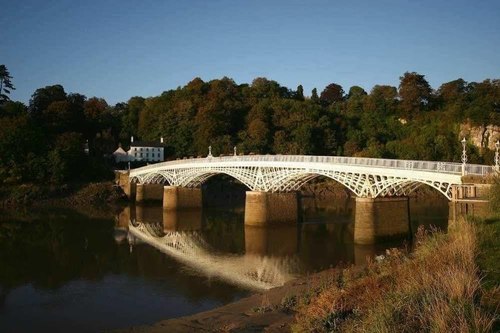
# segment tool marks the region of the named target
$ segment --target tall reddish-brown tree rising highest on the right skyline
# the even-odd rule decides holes
[[[399,77],[399,98],[401,99],[401,117],[418,117],[430,102],[432,89],[425,76],[416,72],[406,72]]]

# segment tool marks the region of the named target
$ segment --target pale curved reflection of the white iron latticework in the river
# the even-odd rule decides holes
[[[291,273],[296,264],[293,257],[216,253],[199,232],[164,233],[162,225],[157,223],[131,223],[129,231],[195,271],[238,286],[269,289],[294,277]]]

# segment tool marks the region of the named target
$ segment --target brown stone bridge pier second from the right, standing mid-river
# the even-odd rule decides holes
[[[247,191],[245,224],[295,224],[298,221],[297,193]]]

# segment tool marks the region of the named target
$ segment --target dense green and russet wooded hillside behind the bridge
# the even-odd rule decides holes
[[[6,70],[7,72],[7,70]],[[13,89],[9,73],[8,82]],[[102,98],[40,88],[28,106],[0,101],[0,179],[61,182],[95,171],[103,154],[124,148],[132,135],[165,138],[168,159],[231,154],[314,154],[455,161],[461,123],[500,124],[500,80],[462,79],[432,90],[423,75],[404,73],[398,87],[367,93],[335,83],[304,96],[256,78],[204,82],[195,78],[160,96],[132,97],[110,106]],[[90,156],[83,154],[88,140]],[[491,164],[491,152],[469,145],[469,162]],[[97,168],[99,170],[99,168]]]

